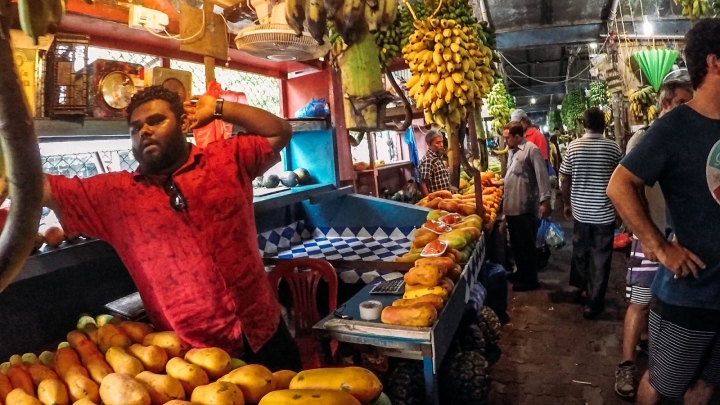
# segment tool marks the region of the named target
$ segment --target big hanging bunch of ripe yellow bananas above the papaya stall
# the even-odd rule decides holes
[[[410,67],[408,95],[425,112],[425,121],[450,130],[490,92],[492,49],[478,42],[474,30],[455,20],[414,22],[415,33],[402,50]],[[449,131],[451,132],[451,131]]]

